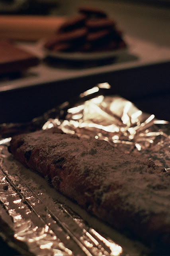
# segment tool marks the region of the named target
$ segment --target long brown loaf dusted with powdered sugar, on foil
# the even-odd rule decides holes
[[[14,136],[10,150],[91,214],[168,251],[170,176],[164,168],[105,140],[83,139],[55,128]]]

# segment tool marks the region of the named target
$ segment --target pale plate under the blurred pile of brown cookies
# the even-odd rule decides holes
[[[57,59],[63,60],[77,60],[77,61],[87,61],[87,60],[101,60],[107,58],[118,57],[121,54],[127,53],[127,48],[112,50],[106,52],[53,52],[50,50],[45,50],[46,56],[50,56]]]

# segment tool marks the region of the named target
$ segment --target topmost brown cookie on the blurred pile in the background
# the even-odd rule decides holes
[[[92,7],[88,7],[88,6],[84,6],[84,7],[79,7],[78,8],[78,12],[80,12],[81,14],[85,14],[88,18],[106,18],[107,14],[97,8],[92,8]]]

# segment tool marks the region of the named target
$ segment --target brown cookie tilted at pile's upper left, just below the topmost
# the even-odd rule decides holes
[[[59,28],[59,32],[68,32],[84,26],[86,15],[79,14],[76,16],[69,17],[66,22]]]

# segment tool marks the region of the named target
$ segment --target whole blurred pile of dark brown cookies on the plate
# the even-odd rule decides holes
[[[81,7],[45,43],[54,52],[98,52],[125,48],[115,21],[102,10]]]

